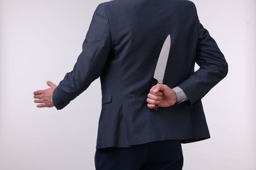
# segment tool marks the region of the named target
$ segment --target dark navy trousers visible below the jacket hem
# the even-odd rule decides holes
[[[96,170],[181,170],[181,141],[158,141],[95,153]]]

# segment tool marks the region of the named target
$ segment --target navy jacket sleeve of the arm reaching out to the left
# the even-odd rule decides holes
[[[99,5],[83,42],[83,51],[73,71],[67,73],[53,92],[56,109],[62,109],[100,76],[111,48],[110,26],[104,5]]]

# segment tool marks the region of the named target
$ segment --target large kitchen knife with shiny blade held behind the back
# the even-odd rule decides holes
[[[169,51],[171,48],[171,35],[168,35],[161,47],[160,56],[158,58],[158,63],[156,64],[156,70],[154,73],[154,78],[158,80],[158,83],[163,84],[163,77],[165,75],[165,69],[168,61]],[[158,110],[158,105],[154,108]]]

